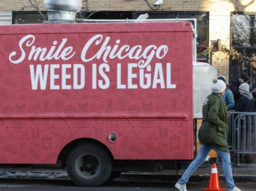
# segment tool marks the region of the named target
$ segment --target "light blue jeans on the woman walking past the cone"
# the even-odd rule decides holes
[[[178,180],[179,184],[186,184],[189,181],[189,178],[191,175],[195,172],[195,170],[206,160],[209,151],[212,149],[212,147],[209,147],[207,145],[200,145],[199,146],[199,152],[198,156],[191,162],[189,167],[186,169],[180,180]],[[222,161],[222,169],[224,171],[226,183],[227,183],[227,191],[231,191],[234,189],[235,184],[233,180],[232,175],[232,169],[231,169],[231,162],[230,162],[230,154],[229,152],[220,151],[217,148],[213,148],[217,153],[218,156],[221,157]]]

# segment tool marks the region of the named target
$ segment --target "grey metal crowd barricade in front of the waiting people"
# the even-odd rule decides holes
[[[256,154],[256,112],[229,112],[227,142],[236,165],[241,154]]]

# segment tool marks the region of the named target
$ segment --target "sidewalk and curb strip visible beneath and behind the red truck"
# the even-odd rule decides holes
[[[191,182],[208,182],[211,165],[198,168],[189,181]],[[224,181],[224,175],[221,165],[217,166],[218,174],[221,181]],[[182,175],[186,169],[180,169],[179,175]],[[239,167],[233,166],[233,177],[235,182],[256,182],[256,164],[241,164]],[[0,168],[0,178],[9,179],[68,179],[67,171],[62,169],[33,169],[33,168]],[[116,180],[138,181],[152,180],[153,182],[177,181],[175,170],[163,170],[158,172],[122,172]]]

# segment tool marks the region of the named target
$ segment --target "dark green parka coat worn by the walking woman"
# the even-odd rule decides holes
[[[203,123],[198,132],[200,144],[228,152],[227,130],[227,106],[221,96],[212,92],[203,104]]]

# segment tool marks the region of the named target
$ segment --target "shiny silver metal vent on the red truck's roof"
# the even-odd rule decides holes
[[[44,0],[48,20],[44,23],[74,23],[82,9],[82,0]]]

